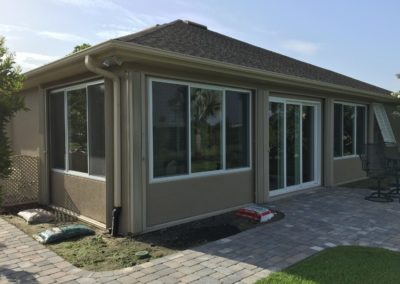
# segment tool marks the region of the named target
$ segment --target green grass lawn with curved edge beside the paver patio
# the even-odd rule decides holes
[[[256,284],[399,283],[400,253],[342,246],[319,252]]]

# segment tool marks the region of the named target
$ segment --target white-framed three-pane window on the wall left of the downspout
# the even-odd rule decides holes
[[[50,92],[49,115],[52,168],[104,176],[104,84]]]

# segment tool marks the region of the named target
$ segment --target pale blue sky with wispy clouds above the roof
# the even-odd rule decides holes
[[[392,91],[400,89],[400,1],[0,0],[0,35],[24,71],[175,19]]]

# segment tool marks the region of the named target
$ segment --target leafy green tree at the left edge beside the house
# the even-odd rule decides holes
[[[24,99],[15,93],[21,90],[24,76],[16,66],[14,55],[5,47],[0,36],[0,178],[11,173],[11,145],[6,126],[14,115],[25,109]]]

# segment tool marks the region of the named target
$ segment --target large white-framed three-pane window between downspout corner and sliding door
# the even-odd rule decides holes
[[[250,167],[250,92],[151,79],[151,178]]]

